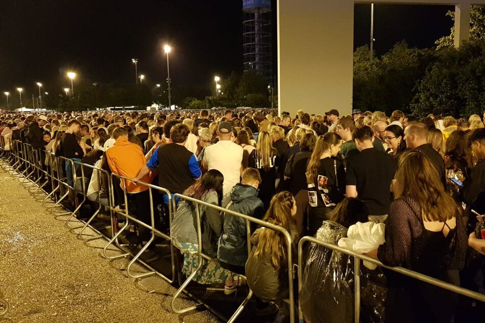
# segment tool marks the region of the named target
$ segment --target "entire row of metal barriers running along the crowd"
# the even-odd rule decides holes
[[[50,212],[56,216],[56,217],[62,217],[62,216],[68,216],[68,218],[65,220],[66,227],[71,228],[71,229],[81,229],[77,234],[79,238],[81,239],[95,239],[95,238],[101,238],[104,237],[105,239],[108,240],[108,243],[103,249],[103,255],[107,259],[117,259],[121,257],[131,257],[131,261],[129,264],[126,266],[126,272],[128,275],[132,278],[144,278],[152,275],[158,275],[170,284],[175,284],[176,283],[176,277],[180,275],[181,273],[178,271],[178,264],[177,261],[177,249],[174,248],[171,237],[169,234],[166,232],[161,231],[159,228],[157,228],[157,224],[155,221],[155,206],[154,206],[154,193],[157,192],[157,194],[161,195],[166,195],[168,197],[168,220],[169,220],[169,227],[171,227],[171,221],[173,218],[173,215],[176,210],[176,201],[178,199],[180,200],[185,200],[191,203],[194,203],[197,207],[195,208],[196,210],[196,232],[197,232],[197,241],[198,241],[198,248],[197,248],[197,257],[198,257],[198,266],[196,270],[187,277],[187,279],[180,284],[180,287],[177,289],[175,294],[172,297],[170,306],[172,311],[175,313],[186,313],[191,310],[194,310],[195,308],[199,307],[202,304],[197,304],[195,306],[191,306],[185,309],[179,309],[176,307],[175,301],[176,299],[180,296],[182,292],[188,293],[187,291],[187,286],[189,283],[192,281],[193,277],[197,274],[197,271],[200,270],[202,266],[202,260],[206,261],[213,261],[213,262],[218,262],[217,259],[212,258],[211,256],[207,255],[206,253],[203,252],[202,250],[202,230],[201,230],[201,219],[200,219],[200,212],[199,212],[199,206],[204,206],[204,207],[209,207],[217,210],[218,212],[221,212],[221,214],[231,214],[231,216],[238,217],[240,219],[243,219],[246,222],[246,235],[247,235],[247,240],[248,240],[248,255],[251,252],[251,244],[250,244],[250,236],[251,236],[251,223],[256,224],[258,226],[264,226],[265,228],[269,228],[271,230],[275,230],[280,232],[285,236],[285,240],[287,243],[287,261],[288,261],[288,282],[289,282],[289,299],[286,300],[286,302],[290,306],[290,321],[293,323],[296,319],[295,315],[295,294],[293,290],[293,281],[295,279],[295,270],[294,267],[297,267],[298,271],[298,291],[301,290],[302,288],[302,274],[304,270],[304,260],[303,259],[303,247],[307,243],[312,243],[312,244],[317,244],[319,246],[329,248],[334,251],[341,252],[343,254],[347,254],[349,256],[352,256],[354,258],[354,320],[355,322],[360,321],[360,302],[361,302],[361,297],[360,297],[360,265],[361,265],[361,260],[368,261],[370,263],[374,263],[376,265],[379,265],[381,267],[387,268],[388,270],[397,272],[401,275],[408,276],[453,292],[456,292],[458,294],[464,295],[466,297],[469,297],[471,299],[485,302],[485,295],[465,289],[462,287],[458,287],[455,285],[452,285],[450,283],[440,281],[438,279],[423,275],[418,272],[414,272],[411,270],[407,270],[406,268],[402,267],[389,267],[384,264],[382,264],[380,261],[364,256],[364,255],[359,255],[356,253],[353,253],[352,251],[343,249],[341,247],[331,245],[324,243],[321,240],[318,240],[316,238],[310,237],[310,236],[304,236],[300,239],[298,243],[298,251],[297,251],[297,264],[295,265],[293,263],[293,251],[292,251],[292,240],[291,236],[286,231],[284,228],[275,226],[273,224],[267,223],[265,221],[249,217],[245,214],[241,214],[235,211],[231,211],[225,208],[222,208],[220,206],[216,206],[213,204],[209,204],[200,200],[196,200],[181,194],[175,194],[171,195],[171,193],[164,189],[163,187],[159,187],[156,185],[152,185],[150,183],[145,183],[145,182],[138,182],[138,185],[145,185],[147,187],[148,191],[148,203],[149,203],[149,220],[150,223],[145,223],[143,221],[140,221],[139,217],[136,216],[135,214],[132,214],[130,211],[130,198],[129,195],[130,193],[126,193],[124,190],[118,190],[122,194],[122,198],[116,196],[116,190],[115,190],[115,185],[117,183],[122,183],[124,187],[126,187],[126,181],[130,180],[129,178],[126,178],[124,176],[118,176],[114,173],[109,173],[107,170],[101,169],[99,167],[95,167],[92,165],[87,165],[81,162],[74,161],[72,159],[68,159],[62,156],[55,156],[54,153],[52,152],[46,152],[43,150],[39,149],[34,149],[31,145],[26,144],[26,143],[21,143],[20,141],[15,141],[11,140],[9,138],[5,139],[3,136],[0,136],[0,160],[2,160],[3,163],[0,163],[0,166],[9,173],[12,177],[16,178],[19,180],[19,182],[29,190],[29,193],[34,197],[38,198],[38,194],[42,193],[42,203],[43,206],[46,207],[47,209],[50,210]],[[8,147],[8,149],[6,149]],[[45,158],[45,159],[43,159]],[[44,160],[49,160],[49,165],[45,165]],[[68,167],[71,167],[72,173],[68,173],[72,178],[69,178],[67,180],[66,174],[64,170],[66,169],[66,163]],[[76,169],[79,170],[78,174],[76,174]],[[103,199],[100,197],[98,194],[95,198],[89,199],[88,194],[87,194],[87,185],[89,185],[89,181],[91,178],[88,180],[87,176],[85,176],[86,173],[92,173],[92,176],[95,176],[97,178],[98,182],[98,189],[101,189],[101,182],[103,180],[106,180],[106,189],[107,189],[107,198]],[[104,179],[102,180],[101,178]],[[50,185],[48,185],[50,183]],[[116,184],[115,184],[116,183]],[[47,189],[47,187],[50,187],[50,189]],[[35,191],[32,191],[32,189],[35,189]],[[98,191],[99,192],[99,191]],[[73,210],[69,211],[66,210],[65,212],[59,213],[57,210],[57,206],[60,206],[63,201],[67,201],[66,198],[71,195],[72,202],[73,202]],[[81,197],[81,200],[79,199]],[[121,201],[119,201],[121,199]],[[97,208],[93,211],[91,214],[89,220],[83,223],[83,225],[77,226],[77,227],[71,227],[70,222],[71,219],[76,217],[79,218],[79,210],[82,207],[82,205],[87,201],[95,202],[97,203]],[[47,204],[52,204],[52,205],[47,205]],[[107,235],[101,234],[99,231],[97,231],[95,228],[90,226],[91,221],[97,216],[97,214],[100,212],[101,208],[105,207],[109,213],[110,213],[110,218],[111,218],[111,232]],[[122,225],[121,228],[118,228],[118,218],[123,219],[124,224]],[[139,227],[143,227],[146,230],[149,230],[149,239],[146,242],[146,244],[141,248],[140,251],[134,253],[130,249],[126,248],[128,247],[127,245],[123,245],[119,242],[118,238],[120,235],[127,229],[129,228],[130,224],[137,224]],[[90,237],[85,237],[85,234],[83,233],[86,228],[90,228],[93,230],[96,235],[90,236]],[[171,271],[171,277],[168,277],[160,272],[158,272],[154,267],[152,267],[150,264],[146,263],[146,261],[143,261],[140,259],[140,256],[142,253],[147,250],[152,243],[154,243],[156,237],[163,238],[170,244],[170,271]],[[108,249],[110,246],[116,246],[118,247],[122,253],[117,254],[117,255],[109,255],[108,254]],[[142,273],[142,274],[135,274],[132,271],[132,267],[135,263],[141,263],[143,264],[146,268],[148,268],[148,272]],[[241,312],[244,310],[246,305],[248,304],[249,300],[251,299],[253,295],[253,292],[249,289],[247,297],[244,299],[244,301],[239,305],[237,310],[234,312],[234,314],[229,318],[229,322],[233,322],[234,320],[237,319],[237,317],[241,314]],[[3,300],[0,300],[3,302]],[[7,303],[8,304],[8,303]],[[1,314],[5,314],[8,310],[8,305],[4,305],[6,309],[4,309],[4,312]],[[0,314],[0,316],[2,316]],[[304,320],[304,313],[301,311],[301,307],[298,304],[298,317],[299,320],[302,322]]]

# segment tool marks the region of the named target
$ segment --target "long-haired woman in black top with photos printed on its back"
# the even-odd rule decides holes
[[[307,166],[308,234],[314,235],[329,220],[345,192],[345,167],[336,159],[342,139],[335,132],[319,136]]]

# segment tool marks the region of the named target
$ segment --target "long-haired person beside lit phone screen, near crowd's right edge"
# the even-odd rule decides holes
[[[458,202],[460,186],[451,178],[463,183],[473,166],[472,152],[465,131],[456,130],[450,134],[445,144],[443,159],[445,159],[446,169],[446,191]]]

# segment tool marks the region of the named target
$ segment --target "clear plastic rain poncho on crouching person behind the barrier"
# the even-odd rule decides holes
[[[347,228],[324,221],[316,238],[337,244],[347,235]],[[304,318],[316,322],[353,322],[353,257],[338,251],[309,244],[304,253],[304,270],[299,302]],[[386,300],[386,279],[380,268],[361,267],[361,321],[382,322]]]

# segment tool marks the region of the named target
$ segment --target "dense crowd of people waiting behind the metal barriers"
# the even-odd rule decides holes
[[[480,116],[443,118],[439,109],[424,118],[357,109],[347,116],[335,109],[323,115],[265,112],[15,114],[0,117],[0,133],[5,150],[19,141],[43,151],[43,165],[56,168],[70,186],[79,170],[70,163],[54,165],[45,152],[129,178],[114,185],[116,207],[124,207],[124,191],[136,217],[148,224],[150,199],[144,183],[167,189],[172,198],[183,194],[283,227],[295,251],[304,235],[337,243],[356,223],[384,223],[385,243],[367,255],[483,292],[485,239],[477,234],[480,214],[485,214],[485,127]],[[85,177],[89,200],[106,200],[107,179],[97,172]],[[291,268],[282,234],[253,227],[248,254],[244,220],[177,200],[169,226],[169,200],[164,194],[154,197],[156,226],[170,234],[184,255],[183,273],[196,270],[200,248],[219,262],[204,260],[195,281],[224,283],[224,292],[231,294],[245,283],[244,276],[258,297],[258,313],[288,313],[284,300]],[[139,226],[140,248],[149,235]],[[318,268],[340,266],[335,264],[337,252],[322,258],[312,253],[327,255],[328,250],[309,250],[309,268],[315,259],[320,259]],[[330,281],[348,286],[352,277],[305,270],[304,280],[313,281],[316,272],[318,280],[300,293],[305,319],[346,321],[348,315],[335,312],[348,307],[321,307],[331,300],[314,295],[335,292]],[[384,291],[379,304],[363,296],[363,317],[369,321],[453,322],[473,307],[467,307],[472,301],[459,302],[456,294],[438,287],[388,271],[373,273],[363,274],[368,285]],[[385,310],[376,310],[379,306]],[[377,312],[381,315],[372,315]]]

